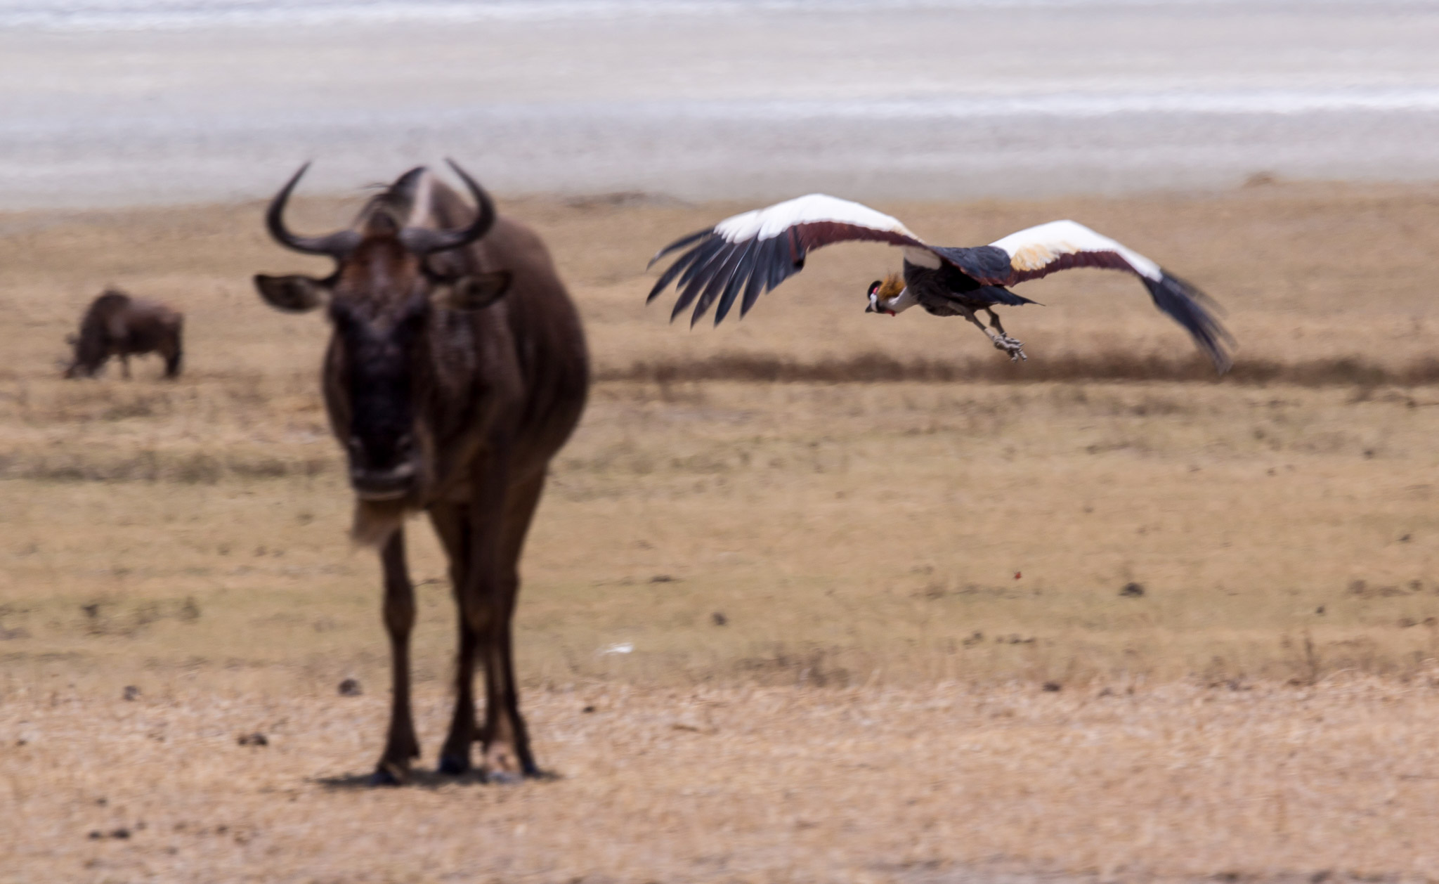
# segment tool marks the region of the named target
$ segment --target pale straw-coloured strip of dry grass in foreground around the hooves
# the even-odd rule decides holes
[[[531,691],[557,782],[366,789],[383,691],[10,691],[20,881],[1425,881],[1435,690]],[[583,710],[593,708],[591,713]],[[442,697],[425,697],[439,733]],[[260,730],[268,746],[239,746]],[[158,788],[157,788],[158,783]],[[125,829],[128,838],[115,838]],[[91,832],[102,835],[91,836]],[[19,874],[17,874],[19,872]]]

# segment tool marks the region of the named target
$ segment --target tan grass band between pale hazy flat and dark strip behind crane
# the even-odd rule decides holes
[[[357,203],[299,200],[295,226],[342,225]],[[816,252],[803,274],[766,295],[743,323],[685,333],[682,324],[666,327],[666,302],[640,307],[655,278],[645,262],[678,233],[748,206],[685,206],[620,194],[517,199],[504,207],[534,223],[551,243],[581,301],[602,371],[720,356],[807,366],[869,353],[901,363],[973,360],[1007,371],[1003,358],[961,323],[863,312],[869,281],[898,268],[898,253],[884,246]],[[1227,308],[1240,370],[1245,363],[1348,358],[1404,380],[1410,366],[1435,356],[1429,330],[1439,187],[1286,184],[1200,196],[879,207],[931,240],[954,245],[989,242],[1053,217],[1082,220],[1193,279]],[[327,265],[271,245],[260,210],[252,203],[0,215],[0,291],[6,292],[0,320],[12,337],[22,333],[7,340],[14,357],[4,376],[49,374],[62,356],[62,330],[106,284],[167,298],[193,318],[203,314],[204,321],[186,328],[196,371],[291,374],[296,360],[312,358],[322,330],[318,323],[256,311],[249,276]],[[1059,274],[1026,284],[1023,294],[1048,304],[1006,312],[1006,328],[1026,343],[1032,373],[1056,379],[1045,366],[1062,358],[1084,364],[1104,354],[1189,363],[1184,333],[1154,314],[1143,287],[1120,274]]]

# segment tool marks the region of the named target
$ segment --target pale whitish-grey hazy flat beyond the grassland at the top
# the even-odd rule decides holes
[[[1419,1],[0,0],[0,204],[1432,180],[1436,48]]]

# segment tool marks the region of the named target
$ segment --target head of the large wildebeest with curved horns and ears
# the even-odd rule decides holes
[[[271,236],[307,255],[335,259],[335,272],[315,276],[255,276],[271,307],[308,311],[328,305],[334,335],[325,357],[325,397],[335,433],[345,443],[350,484],[366,501],[413,500],[425,482],[425,435],[417,402],[425,394],[429,331],[436,308],[472,311],[509,288],[509,272],[472,272],[472,262],[439,258],[473,243],[495,222],[495,206],[469,174],[450,161],[476,203],[475,219],[458,229],[413,225],[427,213],[427,173],[413,168],[378,194],[357,229],[298,236],[285,227],[291,190],[308,164],[271,202]]]

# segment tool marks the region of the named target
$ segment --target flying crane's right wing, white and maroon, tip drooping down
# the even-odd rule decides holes
[[[1215,367],[1226,371],[1232,364],[1229,348],[1233,337],[1220,324],[1216,315],[1219,308],[1204,292],[1081,223],[1049,222],[974,249],[930,249],[986,285],[1014,285],[1075,266],[1127,271],[1144,282],[1156,307],[1194,337],[1194,343],[1215,360]]]

